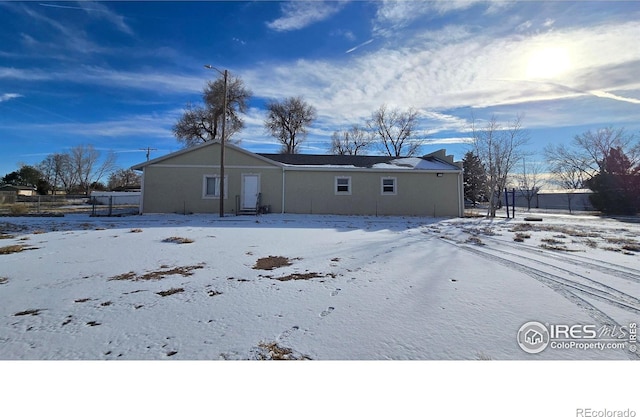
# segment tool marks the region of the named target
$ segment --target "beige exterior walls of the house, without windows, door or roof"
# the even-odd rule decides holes
[[[206,175],[219,175],[220,148],[217,144],[179,152],[144,167],[144,213],[217,213],[217,198],[203,197]],[[313,171],[287,167],[236,148],[225,152],[227,198],[225,212],[235,213],[236,196],[242,196],[243,174],[260,178],[262,205],[280,213],[284,174],[284,212],[310,214],[366,214],[412,216],[459,216],[462,188],[456,171],[392,171],[371,169]],[[351,194],[336,195],[335,178],[351,177]],[[383,195],[381,178],[396,178],[396,194]],[[242,198],[242,197],[241,197]],[[241,203],[242,205],[242,203]]]

